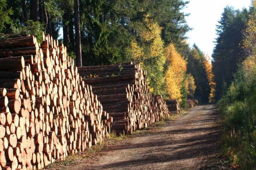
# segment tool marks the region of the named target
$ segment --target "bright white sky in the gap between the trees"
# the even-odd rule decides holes
[[[203,52],[209,54],[215,47],[213,41],[217,38],[216,25],[221,18],[223,9],[229,5],[235,9],[249,8],[251,0],[190,0],[183,11],[190,13],[186,17],[187,24],[192,31],[187,33],[187,42],[192,46],[195,43]]]

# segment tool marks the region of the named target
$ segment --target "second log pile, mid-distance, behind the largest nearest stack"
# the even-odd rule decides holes
[[[78,67],[78,73],[109,112],[110,125],[117,133],[145,128],[167,114],[161,96],[150,93],[140,64]]]

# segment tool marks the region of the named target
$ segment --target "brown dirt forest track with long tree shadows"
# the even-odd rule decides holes
[[[163,124],[163,125],[161,125]],[[127,137],[106,140],[94,154],[83,152],[69,164],[49,169],[72,170],[224,170],[220,156],[219,115],[213,104],[199,105],[165,123]],[[98,149],[98,150],[97,150]],[[91,155],[91,156],[90,156]]]

